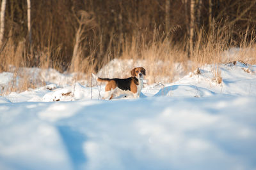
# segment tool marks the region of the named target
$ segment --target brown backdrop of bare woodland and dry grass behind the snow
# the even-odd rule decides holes
[[[26,0],[6,3],[0,71],[92,73],[114,58],[144,59],[148,67],[163,60],[161,70],[148,69],[150,82],[156,74],[172,81],[175,62],[193,70],[218,64],[232,46],[244,49],[240,60],[256,62],[256,0],[31,0],[29,10]]]

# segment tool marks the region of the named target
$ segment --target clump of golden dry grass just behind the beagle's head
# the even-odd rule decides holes
[[[168,78],[168,82],[172,82],[175,64],[185,65],[188,60],[186,52],[182,50],[182,46],[173,45],[172,38],[159,34],[156,29],[150,43],[145,43],[145,36],[147,35],[142,34],[132,39],[131,43],[125,43],[120,59],[133,59],[134,62],[143,60],[148,83],[159,82],[163,77]]]

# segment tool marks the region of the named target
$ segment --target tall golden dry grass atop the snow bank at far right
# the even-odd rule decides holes
[[[191,70],[196,70],[196,67],[205,64],[214,64],[212,80],[221,83],[220,64],[236,60],[255,64],[255,31],[248,27],[246,32],[239,32],[238,39],[241,41],[233,39],[232,34],[234,34],[234,30],[228,24],[220,25],[214,21],[208,32],[204,28],[198,30],[195,46],[191,53]]]

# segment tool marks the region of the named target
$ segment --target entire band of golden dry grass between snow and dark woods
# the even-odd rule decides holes
[[[12,39],[9,38],[0,53],[0,71],[12,72],[14,76],[12,83],[8,86],[8,90],[2,90],[2,94],[3,91],[22,92],[45,84],[40,80],[40,77],[37,77],[36,80],[31,80],[31,74],[20,73],[21,67],[37,66],[44,69],[51,67],[58,71],[68,69],[70,72],[85,73],[85,77],[84,74],[77,74],[76,80],[86,78],[90,82],[91,73],[99,70],[112,59],[133,59],[134,65],[136,61],[143,60],[145,64],[143,67],[147,69],[147,79],[150,84],[158,83],[163,80],[163,77],[166,78],[166,82],[175,80],[175,76],[179,76],[176,68],[177,63],[184,68],[183,71],[185,73],[195,71],[204,64],[215,64],[216,69],[212,70],[213,80],[221,83],[221,71],[218,64],[232,60],[243,60],[249,64],[256,63],[255,38],[251,36],[252,38],[248,39],[248,32],[245,32],[240,35],[244,37],[243,41],[237,43],[231,39],[230,32],[232,32],[231,28],[226,27],[223,30],[223,27],[218,24],[214,24],[209,32],[204,29],[197,31],[194,50],[190,53],[190,58],[188,58],[188,53],[184,50],[186,49],[186,43],[174,43],[172,36],[175,36],[175,34],[163,34],[158,32],[157,29],[154,30],[150,41],[145,40],[147,39],[147,34],[144,32],[141,32],[140,35],[134,34],[131,41],[128,38],[124,39],[124,43],[116,43],[115,35],[113,35],[109,39],[109,48],[106,50],[104,57],[101,58],[95,57],[96,51],[99,49],[97,45],[87,44],[87,47],[89,46],[88,48],[90,48],[90,53],[86,55],[83,50],[84,44],[79,44],[79,40],[77,40],[75,41],[77,43],[76,53],[73,53],[74,59],[70,64],[61,64],[60,59],[53,60],[56,58],[52,57],[52,55],[59,56],[59,53],[63,50],[61,46],[54,51],[49,46],[43,50],[30,52],[26,48],[25,41],[20,41],[18,45],[15,45]],[[254,35],[254,32],[250,32],[250,34]],[[81,39],[82,36],[83,34],[78,32],[76,39]],[[227,57],[224,52],[234,45],[239,47],[239,50],[234,55],[236,57]],[[69,67],[66,69],[64,67],[63,69],[63,66],[67,65]],[[129,70],[126,72],[129,74]],[[17,82],[17,80],[19,81]]]

